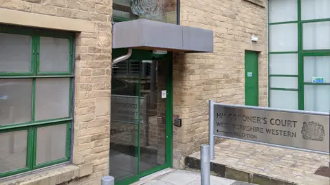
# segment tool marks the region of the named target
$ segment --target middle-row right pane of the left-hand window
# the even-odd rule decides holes
[[[36,79],[35,120],[69,117],[70,78]]]

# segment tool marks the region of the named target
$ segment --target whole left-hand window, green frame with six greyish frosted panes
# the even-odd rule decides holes
[[[68,162],[74,34],[0,26],[0,177]]]

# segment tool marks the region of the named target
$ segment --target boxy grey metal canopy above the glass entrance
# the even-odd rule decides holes
[[[213,31],[137,19],[113,25],[112,48],[213,52]]]

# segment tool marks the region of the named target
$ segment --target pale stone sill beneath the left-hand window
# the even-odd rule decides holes
[[[63,182],[69,182],[79,177],[91,175],[91,173],[93,173],[92,164],[84,164],[80,166],[69,164],[65,166],[58,166],[56,168],[48,169],[45,171],[35,172],[29,175],[24,175],[23,177],[5,180],[0,182],[0,184],[12,185],[21,184],[23,182],[24,185],[56,185]]]

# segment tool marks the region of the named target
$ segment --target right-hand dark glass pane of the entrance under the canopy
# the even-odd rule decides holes
[[[140,170],[148,171],[166,162],[166,61],[143,62]]]

